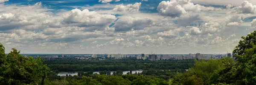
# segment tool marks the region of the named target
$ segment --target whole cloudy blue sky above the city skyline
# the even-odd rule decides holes
[[[0,0],[6,53],[222,54],[256,30],[256,0]]]

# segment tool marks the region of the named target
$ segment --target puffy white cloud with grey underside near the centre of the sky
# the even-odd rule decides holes
[[[131,29],[140,30],[149,27],[152,24],[154,24],[153,19],[149,17],[123,17],[117,20],[113,27],[115,28],[115,31],[131,31]]]

